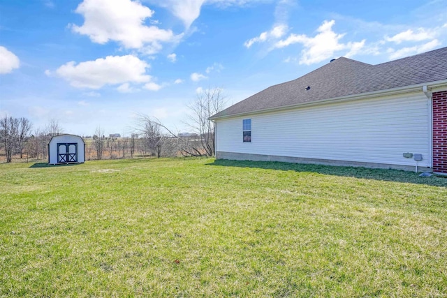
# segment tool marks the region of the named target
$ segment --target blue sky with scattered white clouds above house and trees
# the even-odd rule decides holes
[[[369,64],[447,46],[447,0],[0,0],[0,116],[34,128],[173,131],[200,89],[228,105],[349,57]]]

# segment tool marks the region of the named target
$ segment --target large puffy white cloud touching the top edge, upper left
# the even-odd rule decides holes
[[[94,43],[104,44],[115,40],[126,48],[155,53],[162,42],[177,41],[173,31],[145,26],[145,19],[154,11],[138,1],[131,0],[84,0],[75,10],[84,16],[82,26],[71,25],[73,31],[87,35]],[[148,47],[147,49],[144,49]]]

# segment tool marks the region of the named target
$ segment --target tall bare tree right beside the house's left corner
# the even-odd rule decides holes
[[[188,105],[191,114],[186,124],[200,137],[200,154],[214,156],[214,122],[210,117],[221,110],[226,104],[222,89],[218,87],[202,90],[196,100]],[[198,149],[198,148],[196,148]],[[197,150],[195,150],[197,151]]]

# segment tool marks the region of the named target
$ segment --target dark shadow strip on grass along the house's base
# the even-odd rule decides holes
[[[342,177],[355,177],[359,179],[374,179],[411,184],[425,184],[429,186],[447,187],[447,177],[432,175],[419,177],[419,173],[403,170],[371,169],[368,167],[342,167],[335,165],[314,165],[304,163],[283,163],[278,161],[230,161],[217,159],[207,165],[223,167],[254,167],[258,169],[316,172],[318,174],[336,175]]]

